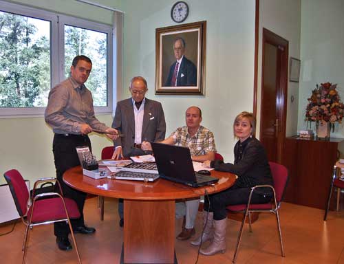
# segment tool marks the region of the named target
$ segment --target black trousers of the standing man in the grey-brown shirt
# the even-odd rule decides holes
[[[92,151],[91,141],[87,135],[61,135],[55,134],[54,141],[52,143],[52,151],[54,153],[54,161],[56,168],[56,177],[61,184],[63,195],[76,201],[78,210],[81,214],[79,219],[71,219],[72,227],[84,225],[83,208],[85,205],[86,193],[80,192],[74,188],[67,186],[63,182],[63,173],[69,168],[80,165],[78,154],[76,153],[76,146],[88,146]],[[55,190],[58,190],[58,186],[55,186]],[[55,236],[68,236],[69,228],[67,223],[58,222],[54,223]]]

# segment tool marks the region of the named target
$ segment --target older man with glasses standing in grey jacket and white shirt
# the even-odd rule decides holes
[[[113,159],[145,155],[149,151],[141,149],[141,142],[162,141],[165,138],[166,123],[160,102],[145,98],[147,81],[136,76],[131,79],[129,91],[131,98],[117,103],[112,127],[124,137],[114,140]],[[123,226],[123,202],[118,204],[120,226]]]

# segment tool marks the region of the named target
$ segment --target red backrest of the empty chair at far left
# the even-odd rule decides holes
[[[28,210],[28,200],[30,198],[28,187],[23,176],[18,170],[8,170],[3,174],[14,199],[17,211],[21,217],[25,216]]]

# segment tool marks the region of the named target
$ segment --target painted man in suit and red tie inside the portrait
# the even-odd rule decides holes
[[[184,55],[185,48],[186,43],[184,39],[181,37],[175,39],[173,42],[175,62],[169,69],[169,76],[164,86],[197,86],[197,68],[193,62]]]

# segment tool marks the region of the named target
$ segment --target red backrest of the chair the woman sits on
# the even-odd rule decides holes
[[[285,166],[275,162],[269,162],[269,165],[272,178],[274,179],[277,203],[279,203],[283,199],[283,194],[288,183],[288,170]]]

